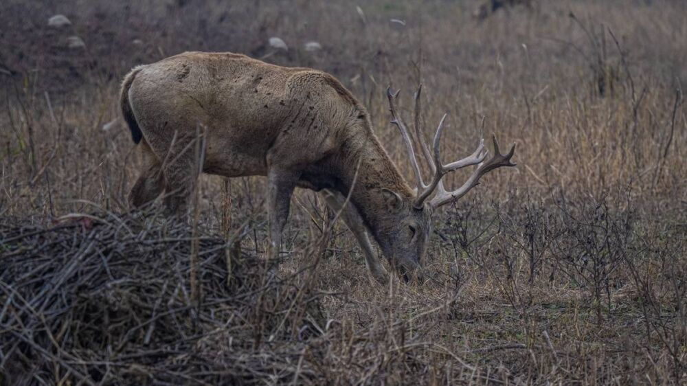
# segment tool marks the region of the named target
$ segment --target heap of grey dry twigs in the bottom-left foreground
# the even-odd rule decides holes
[[[318,297],[227,245],[142,216],[0,224],[0,383],[278,379],[290,353],[255,349],[317,334]]]

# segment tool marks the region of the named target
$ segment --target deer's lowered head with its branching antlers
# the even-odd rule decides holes
[[[484,139],[480,139],[477,148],[468,157],[447,164],[442,163],[439,147],[447,115],[444,114],[436,128],[431,151],[429,146],[427,146],[425,136],[420,127],[421,91],[422,86],[418,88],[414,95],[414,139],[420,147],[420,152],[423,154],[431,171],[431,181],[429,183],[425,183],[425,179],[420,172],[420,164],[416,157],[412,134],[396,110],[398,91],[393,93],[390,88],[387,89],[387,97],[389,98],[392,114],[391,123],[398,127],[407,148],[415,175],[416,194],[412,198],[403,199],[398,194],[394,194],[394,192],[388,193],[390,207],[395,214],[392,214],[392,220],[387,222],[390,225],[388,225],[389,229],[385,229],[387,232],[386,240],[380,244],[384,255],[390,257],[390,262],[396,267],[396,270],[405,281],[411,280],[413,276],[421,278],[421,271],[419,269],[420,258],[425,255],[427,249],[427,240],[429,240],[429,235],[431,234],[431,217],[435,209],[458,201],[458,199],[480,183],[480,179],[484,174],[503,166],[515,166],[515,163],[510,161],[515,153],[515,144],[511,146],[506,154],[501,154],[495,135],[492,136],[494,155],[490,159],[486,159],[488,150],[484,147]],[[477,167],[460,188],[447,191],[442,183],[442,178],[449,172],[468,166]]]

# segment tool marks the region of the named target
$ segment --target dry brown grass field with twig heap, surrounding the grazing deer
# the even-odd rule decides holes
[[[3,0],[0,384],[687,384],[687,3],[479,5]],[[190,224],[126,203],[119,83],[187,50],[332,73],[409,179],[385,90],[423,84],[444,155],[517,168],[440,211],[422,284],[297,191],[271,277],[264,178],[203,176]]]

